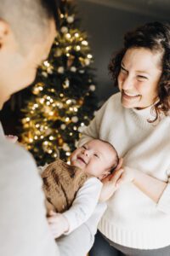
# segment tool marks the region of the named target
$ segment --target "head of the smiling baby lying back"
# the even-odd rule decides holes
[[[117,164],[116,149],[110,143],[99,139],[85,143],[71,154],[71,165],[99,179],[111,174]]]

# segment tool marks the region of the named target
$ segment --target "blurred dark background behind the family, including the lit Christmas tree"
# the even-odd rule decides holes
[[[60,0],[58,36],[29,89],[0,112],[38,165],[69,160],[83,126],[116,93],[108,64],[123,35],[150,21],[170,21],[169,0]]]

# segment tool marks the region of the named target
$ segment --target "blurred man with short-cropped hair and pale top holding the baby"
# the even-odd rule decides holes
[[[0,0],[0,109],[14,92],[35,79],[55,36],[54,0]],[[81,256],[94,241],[104,212],[57,243],[50,234],[37,166],[24,148],[0,132],[0,255]]]

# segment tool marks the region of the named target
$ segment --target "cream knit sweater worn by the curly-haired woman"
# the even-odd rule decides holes
[[[122,185],[108,201],[99,230],[111,241],[139,249],[170,245],[170,117],[150,124],[150,110],[123,108],[117,93],[99,109],[80,141],[90,137],[109,141],[125,166],[167,183],[157,204],[133,183]]]

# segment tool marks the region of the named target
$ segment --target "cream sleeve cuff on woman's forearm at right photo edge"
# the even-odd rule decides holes
[[[169,169],[168,177],[169,178],[168,178],[167,186],[164,189],[160,197],[160,200],[157,203],[157,208],[161,212],[170,214],[170,169]]]

